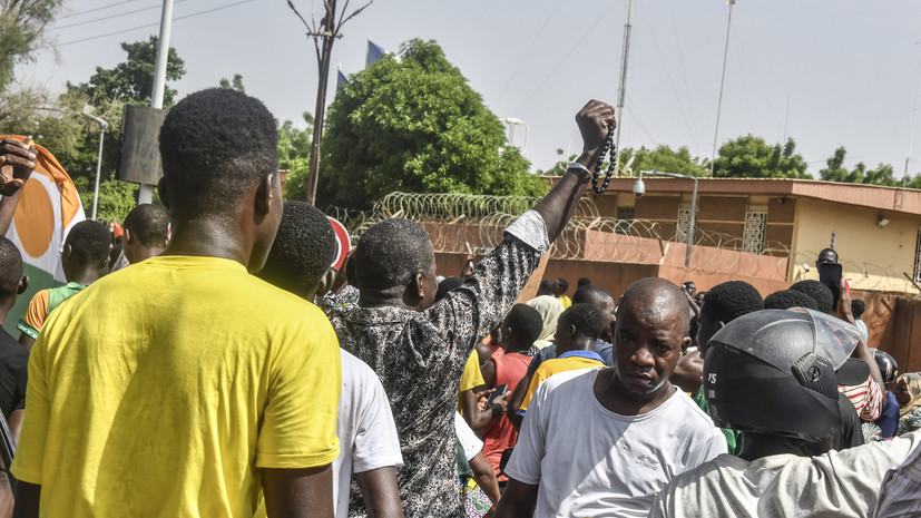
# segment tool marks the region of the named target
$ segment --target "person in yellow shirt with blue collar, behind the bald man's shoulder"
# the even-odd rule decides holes
[[[518,409],[519,416],[525,416],[535,391],[543,380],[560,372],[605,366],[601,356],[595,352],[595,342],[605,326],[606,321],[601,312],[588,303],[572,304],[560,313],[557,333],[553,335],[558,355],[541,363],[535,372],[525,400]]]

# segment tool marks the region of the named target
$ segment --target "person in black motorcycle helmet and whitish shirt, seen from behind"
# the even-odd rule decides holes
[[[649,517],[873,516],[886,470],[921,433],[830,451],[842,423],[834,365],[859,340],[853,325],[800,309],[726,324],[709,341],[704,391],[716,424],[742,431],[742,451],[675,477]]]

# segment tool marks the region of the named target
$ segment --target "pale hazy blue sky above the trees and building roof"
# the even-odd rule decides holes
[[[320,0],[292,1],[305,16],[321,14]],[[67,18],[48,32],[56,50],[21,66],[19,77],[52,90],[87,80],[96,66],[124,60],[121,41],[157,33],[158,6],[66,1]],[[525,155],[547,168],[558,148],[579,150],[572,116],[586,100],[616,104],[626,10],[627,0],[378,0],[344,27],[333,62],[359,71],[368,38],[389,50],[433,39],[497,116],[528,124]],[[138,12],[116,16],[127,11]],[[621,146],[711,155],[727,13],[723,0],[635,0]],[[300,125],[300,114],[313,111],[313,42],[284,0],[176,0],[174,18],[170,43],[187,71],[175,85],[180,96],[242,74],[247,92],[276,117]],[[146,25],[155,27],[88,39]],[[332,76],[330,99],[335,67]],[[919,81],[921,2],[738,0],[718,141],[791,136],[813,174],[843,145],[850,166],[890,163],[899,176]],[[523,144],[521,129],[515,144]],[[913,147],[912,174],[921,172],[921,135]]]

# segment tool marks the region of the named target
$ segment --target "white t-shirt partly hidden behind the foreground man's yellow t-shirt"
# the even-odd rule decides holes
[[[333,461],[333,501],[336,518],[346,518],[352,473],[403,466],[403,456],[390,401],[378,374],[345,350],[340,352],[342,392],[336,419],[340,453]]]

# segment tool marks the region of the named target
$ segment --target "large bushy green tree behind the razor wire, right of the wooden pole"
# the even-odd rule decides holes
[[[339,89],[319,182],[325,204],[370,208],[393,190],[538,195],[547,185],[434,41],[411,40]]]

